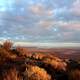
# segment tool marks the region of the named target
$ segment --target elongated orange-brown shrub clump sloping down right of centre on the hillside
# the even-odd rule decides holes
[[[50,64],[56,70],[66,70],[67,64],[57,57],[47,58],[43,60],[44,63]]]

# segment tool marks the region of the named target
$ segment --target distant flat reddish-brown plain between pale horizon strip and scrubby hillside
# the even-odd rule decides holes
[[[48,53],[58,56],[60,58],[80,60],[80,48],[37,48],[37,47],[24,47],[28,53]]]

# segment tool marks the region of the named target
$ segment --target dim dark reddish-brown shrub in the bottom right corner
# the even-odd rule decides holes
[[[69,80],[80,80],[80,70],[79,69],[72,70],[69,73]]]

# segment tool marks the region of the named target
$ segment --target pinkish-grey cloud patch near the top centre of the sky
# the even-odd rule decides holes
[[[46,9],[43,5],[32,5],[30,7],[30,11],[39,16],[52,16],[53,15],[53,10],[52,9]]]

